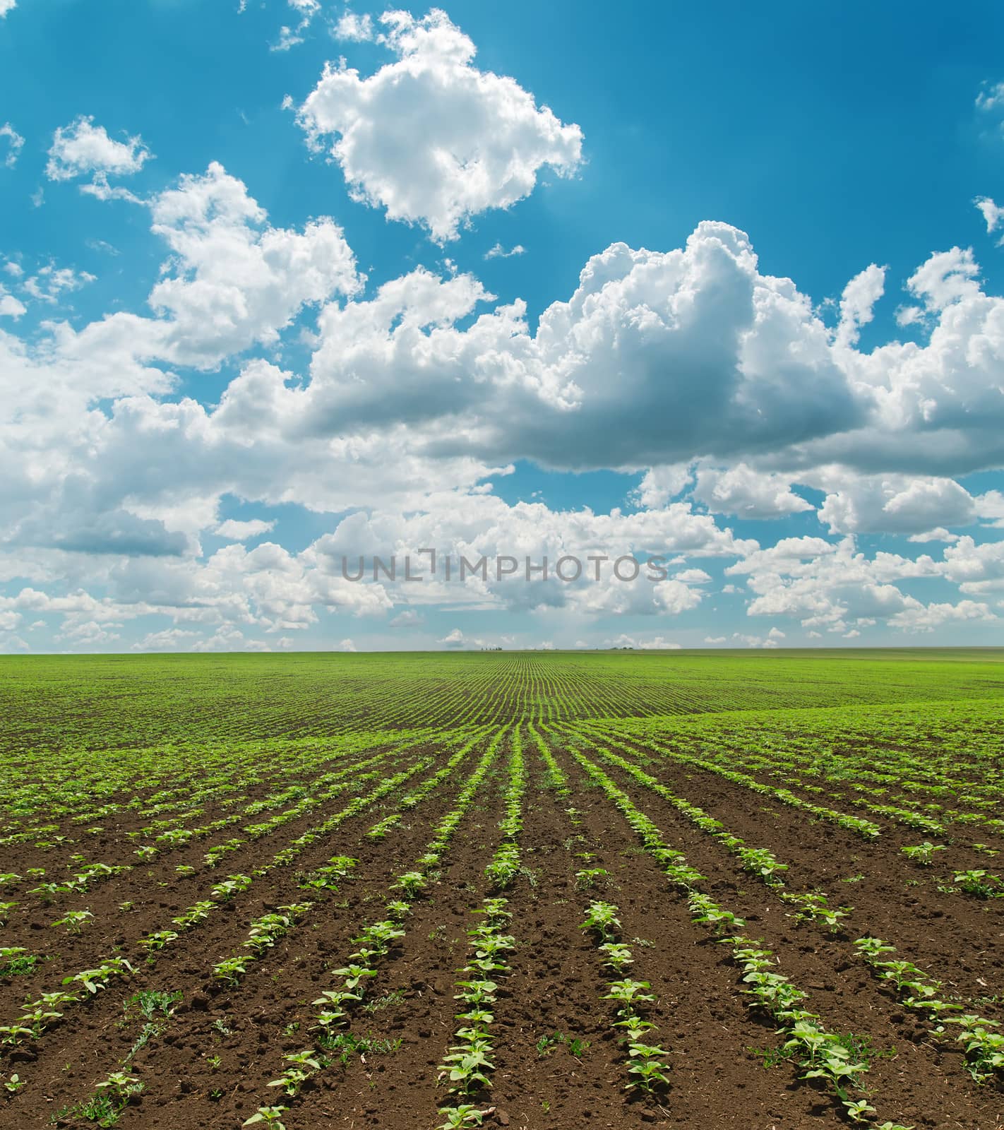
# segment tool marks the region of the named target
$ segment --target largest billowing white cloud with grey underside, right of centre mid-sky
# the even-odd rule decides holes
[[[442,451],[585,469],[769,450],[866,418],[809,301],[760,276],[724,224],[669,253],[594,255],[533,336],[518,301],[455,328],[489,299],[471,276],[418,270],[329,307],[305,398],[315,426],[344,434],[393,411],[442,421]]]

